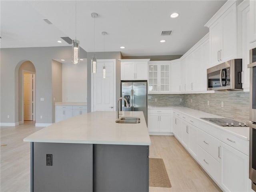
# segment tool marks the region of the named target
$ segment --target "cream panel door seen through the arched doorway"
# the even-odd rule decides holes
[[[24,74],[24,121],[33,120],[33,74]]]

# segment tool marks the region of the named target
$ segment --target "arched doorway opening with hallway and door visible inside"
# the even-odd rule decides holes
[[[32,62],[24,61],[18,69],[18,121],[36,120],[36,94],[35,94],[36,69]]]

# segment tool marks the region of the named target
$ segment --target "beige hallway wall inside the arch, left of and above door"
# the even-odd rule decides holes
[[[22,118],[22,109],[23,109],[23,107],[22,107],[22,104],[23,104],[23,102],[22,102],[22,93],[23,93],[23,91],[22,91],[22,87],[23,87],[23,85],[22,85],[22,78],[23,78],[23,70],[26,70],[26,71],[31,71],[31,72],[34,72],[34,73],[36,73],[36,69],[35,69],[35,66],[33,65],[33,63],[32,62],[30,62],[30,61],[25,61],[25,62],[23,62],[21,65],[20,65],[20,68],[19,68],[19,71],[18,71],[18,78],[19,78],[19,80],[18,80],[18,83],[19,83],[19,85],[18,85],[18,121],[22,121],[23,120],[23,118]],[[1,105],[2,106],[2,105]]]

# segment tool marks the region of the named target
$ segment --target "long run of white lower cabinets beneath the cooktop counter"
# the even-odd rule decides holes
[[[252,191],[249,141],[176,110],[172,127],[177,140],[223,191]]]

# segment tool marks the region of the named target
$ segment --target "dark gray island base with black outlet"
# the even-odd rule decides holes
[[[31,159],[31,192],[148,192],[148,146],[34,142]]]

